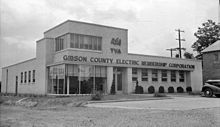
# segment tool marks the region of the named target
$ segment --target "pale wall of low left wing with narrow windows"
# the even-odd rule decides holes
[[[8,70],[8,81],[7,80]],[[15,93],[16,76],[18,76],[18,93],[39,93],[39,86],[32,81],[33,70],[36,71],[36,59],[18,63],[2,69],[2,88],[3,93]],[[31,71],[31,82],[28,82],[28,72]],[[21,83],[21,72],[23,72],[23,83]],[[24,83],[24,73],[27,72],[27,82]],[[37,71],[35,73],[38,73]],[[7,88],[6,88],[7,87]],[[7,89],[7,90],[6,90]]]

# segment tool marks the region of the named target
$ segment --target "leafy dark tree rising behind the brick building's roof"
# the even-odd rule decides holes
[[[193,43],[192,48],[197,51],[196,58],[202,59],[201,51],[213,44],[217,40],[220,40],[220,26],[215,24],[212,20],[202,24],[202,27],[198,28],[198,31],[194,33],[197,41]]]

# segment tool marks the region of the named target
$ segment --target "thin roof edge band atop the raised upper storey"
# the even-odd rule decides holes
[[[75,20],[66,20],[65,22],[63,23],[60,23],[52,28],[50,28],[49,30],[45,31],[44,33],[47,33],[67,22],[74,22],[74,23],[80,23],[80,24],[87,24],[87,25],[93,25],[93,26],[99,26],[99,27],[107,27],[107,28],[113,28],[113,29],[119,29],[119,30],[125,30],[125,31],[128,31],[128,29],[125,29],[125,28],[119,28],[119,27],[113,27],[113,26],[106,26],[106,25],[100,25],[100,24],[95,24],[95,23],[88,23],[88,22],[82,22],[82,21],[75,21]]]

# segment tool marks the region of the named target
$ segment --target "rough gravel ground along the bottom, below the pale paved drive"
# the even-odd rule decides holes
[[[1,107],[1,126],[10,127],[217,127],[220,108],[187,111],[56,107]]]

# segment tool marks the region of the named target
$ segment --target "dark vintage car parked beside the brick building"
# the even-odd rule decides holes
[[[220,79],[218,80],[207,80],[205,85],[202,87],[202,92],[206,97],[220,97]]]

